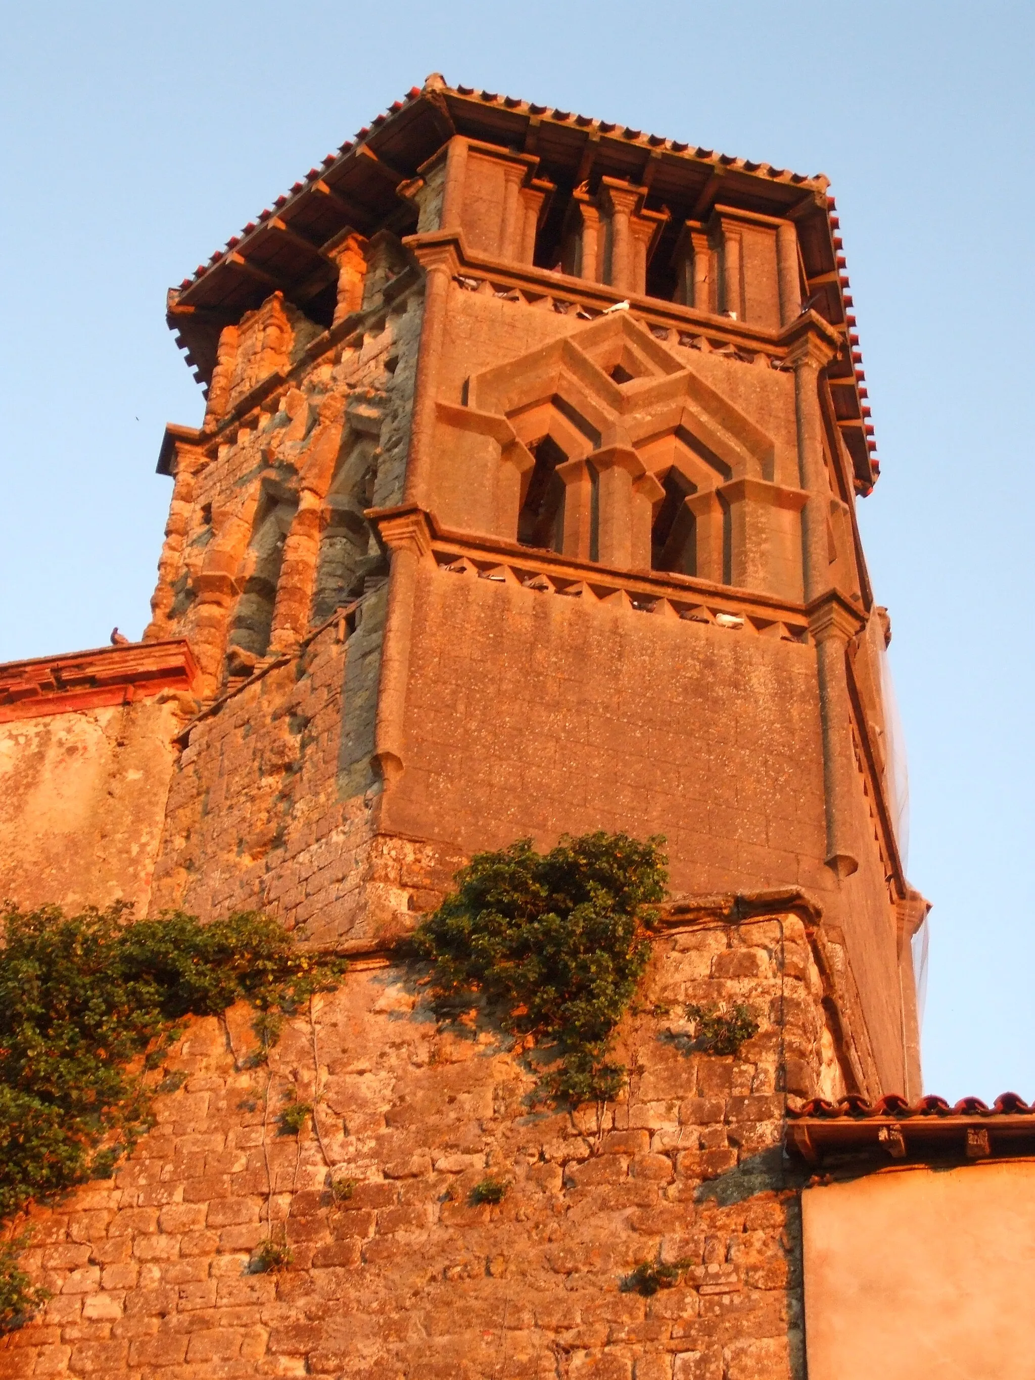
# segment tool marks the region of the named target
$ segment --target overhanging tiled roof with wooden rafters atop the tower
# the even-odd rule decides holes
[[[206,385],[211,379],[221,328],[275,290],[330,324],[337,273],[324,247],[346,229],[370,233],[388,224],[408,233],[415,208],[396,189],[454,134],[538,156],[540,172],[562,189],[602,175],[646,185],[649,204],[672,213],[665,233],[673,241],[683,221],[707,217],[716,203],[792,218],[811,305],[847,334],[847,349],[828,370],[842,435],[856,472],[861,477],[878,473],[839,221],[825,177],[806,177],[493,91],[448,87],[437,76],[424,88],[413,87],[355,141],[327,155],[320,167],[310,168],[170,290],[167,319],[197,379]],[[564,199],[555,201],[560,214]],[[660,253],[667,253],[664,244]]]

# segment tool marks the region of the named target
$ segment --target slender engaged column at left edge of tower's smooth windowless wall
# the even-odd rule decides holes
[[[431,531],[426,518],[415,508],[370,511],[367,518],[391,560],[373,758],[385,787],[391,787],[406,765],[406,689],[410,679],[413,609],[420,566],[431,552]]]

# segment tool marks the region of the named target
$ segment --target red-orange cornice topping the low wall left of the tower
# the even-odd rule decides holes
[[[182,638],[8,661],[0,665],[0,723],[190,691],[196,676]]]

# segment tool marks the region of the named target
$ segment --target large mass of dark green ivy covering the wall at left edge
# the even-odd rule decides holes
[[[264,915],[201,925],[182,912],[134,920],[127,907],[65,915],[0,912],[0,1220],[105,1177],[152,1123],[170,1045],[186,1016],[257,1007],[262,1046],[280,1013],[326,989],[344,963],[294,948]],[[0,1330],[40,1304],[0,1250]]]

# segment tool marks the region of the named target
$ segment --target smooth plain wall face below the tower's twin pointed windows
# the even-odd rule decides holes
[[[835,890],[810,647],[421,569],[393,829],[664,834],[676,894]]]

